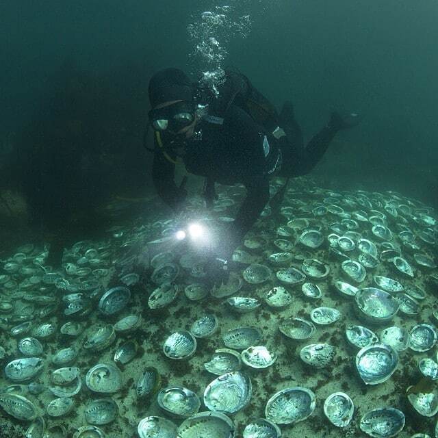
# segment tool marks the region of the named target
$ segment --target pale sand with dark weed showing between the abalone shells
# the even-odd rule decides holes
[[[164,216],[161,215],[160,217]],[[254,230],[272,227],[271,220],[271,218],[262,218],[257,222]],[[283,219],[283,224],[285,222],[287,220]],[[291,240],[294,239],[291,238]],[[113,239],[112,242],[114,245],[118,244],[116,239]],[[147,415],[166,417],[166,414],[157,406],[156,396],[146,402],[143,400],[138,402],[136,400],[136,381],[146,367],[153,366],[159,370],[162,376],[162,388],[172,385],[188,387],[196,392],[202,400],[205,387],[217,377],[209,374],[204,369],[203,363],[209,361],[216,348],[224,348],[221,334],[229,329],[235,329],[240,326],[255,326],[261,329],[263,333],[261,344],[276,352],[279,358],[274,365],[266,370],[253,370],[244,366],[243,370],[248,373],[253,384],[253,396],[248,406],[242,411],[237,412],[235,415],[230,415],[236,425],[236,437],[242,437],[242,431],[248,420],[264,417],[266,402],[276,391],[292,386],[302,386],[311,389],[316,396],[316,408],[311,417],[303,422],[298,422],[292,426],[281,425],[282,436],[285,438],[366,437],[367,435],[361,433],[359,429],[359,421],[366,412],[378,407],[396,407],[406,415],[406,426],[398,437],[411,437],[414,433],[428,433],[433,437],[437,422],[436,418],[422,417],[415,413],[405,396],[405,391],[409,385],[415,385],[415,383],[420,381],[421,374],[417,366],[420,359],[424,357],[437,359],[436,347],[424,353],[415,353],[409,349],[401,352],[400,363],[391,378],[385,383],[367,386],[361,381],[355,369],[355,355],[358,349],[352,348],[348,344],[345,337],[345,329],[346,326],[352,324],[363,324],[379,335],[381,330],[391,325],[403,326],[410,330],[415,324],[424,322],[437,324],[432,315],[432,311],[437,304],[437,287],[427,281],[428,275],[433,272],[436,273],[437,270],[430,270],[430,268],[417,268],[415,270],[414,282],[422,287],[427,294],[426,299],[420,302],[421,311],[418,315],[408,316],[399,313],[391,323],[373,327],[358,319],[354,299],[342,296],[331,286],[333,281],[338,279],[347,280],[342,275],[340,261],[329,259],[327,248],[325,245],[322,249],[310,250],[309,248],[303,249],[297,246],[292,251],[295,255],[305,254],[326,261],[329,263],[331,272],[328,277],[321,281],[310,280],[318,284],[322,289],[323,296],[318,300],[311,300],[303,296],[300,285],[287,287],[294,300],[292,305],[285,309],[269,307],[263,300],[269,289],[280,284],[273,274],[270,281],[261,285],[244,283],[242,289],[237,294],[239,296],[257,297],[261,300],[261,308],[250,313],[236,313],[230,310],[224,303],[224,298],[216,299],[208,297],[204,300],[193,302],[188,300],[183,293],[168,307],[151,311],[147,307],[147,298],[155,286],[149,281],[147,276],[143,276],[138,285],[131,287],[131,302],[122,313],[108,318],[103,317],[98,311],[93,311],[83,321],[87,328],[90,328],[96,326],[96,324],[114,324],[114,322],[120,320],[125,315],[141,313],[143,315],[143,323],[138,331],[128,335],[118,335],[116,342],[102,352],[88,352],[81,348],[87,330],[73,342],[57,333],[55,337],[42,342],[44,345],[44,372],[38,376],[36,381],[49,385],[48,372],[56,368],[55,365],[51,364],[51,356],[59,348],[76,346],[80,349],[79,357],[73,365],[81,369],[81,376],[84,378],[86,372],[96,363],[114,363],[113,358],[116,347],[126,339],[135,337],[141,346],[140,353],[133,361],[123,366],[123,387],[118,393],[111,395],[118,404],[119,415],[115,422],[101,426],[101,428],[108,438],[137,437],[138,422],[143,417]],[[262,253],[256,254],[256,259],[268,265],[266,258],[274,252],[279,252],[279,250],[270,245]],[[300,268],[300,263],[299,260],[293,261],[291,266]],[[273,273],[278,269],[273,266],[271,268]],[[114,268],[112,269],[114,272]],[[400,274],[394,273],[394,270],[389,271],[387,265],[381,263],[378,268],[368,270],[367,279],[361,283],[361,287],[372,286],[372,275],[374,274],[390,276],[400,282],[410,281],[410,279],[403,278]],[[190,280],[181,274],[177,282],[179,281],[183,285],[194,282],[193,279]],[[117,281],[116,275],[110,275],[105,279],[105,287],[116,284],[120,284]],[[279,332],[278,327],[281,320],[297,316],[309,320],[311,309],[320,306],[338,309],[342,313],[342,318],[331,325],[317,326],[315,335],[311,339],[302,342],[294,342]],[[188,361],[172,361],[167,359],[162,352],[162,344],[166,336],[175,331],[190,329],[190,326],[196,319],[201,318],[205,313],[211,312],[219,319],[219,331],[209,339],[198,339],[196,354]],[[62,313],[59,313],[57,316],[51,317],[50,320],[56,322],[59,327],[67,319]],[[16,348],[18,339],[11,337],[8,331],[1,330],[0,345],[5,348],[7,353],[6,358],[1,361],[2,369],[9,360],[20,357]],[[327,369],[312,369],[309,365],[303,363],[299,357],[300,348],[307,344],[319,342],[326,342],[337,348],[335,360]],[[11,382],[5,379],[4,373],[2,374],[0,377],[0,387],[10,385]],[[337,428],[330,424],[326,417],[324,417],[322,410],[325,398],[337,391],[346,392],[355,404],[355,415],[350,426],[347,428]],[[36,402],[36,405],[44,412],[45,407],[53,400],[54,396],[47,390],[39,396],[28,395],[28,398]],[[79,395],[75,396],[75,409],[66,417],[61,417],[60,419],[51,419],[46,415],[48,426],[63,424],[68,430],[67,436],[73,436],[77,427],[86,425],[83,410],[85,402],[89,398],[101,398],[101,396],[99,394],[92,394],[84,384]],[[207,409],[201,407],[200,411],[207,411]],[[18,422],[5,415],[4,411],[0,411],[0,415],[1,438],[23,436],[23,430],[27,427],[26,422]],[[173,421],[176,424],[180,424],[182,420],[173,419]],[[8,428],[11,424],[14,426]],[[14,435],[12,429],[16,430],[16,435]]]

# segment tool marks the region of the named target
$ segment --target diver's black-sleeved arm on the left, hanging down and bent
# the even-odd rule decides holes
[[[175,164],[161,151],[155,151],[152,165],[152,179],[160,198],[175,212],[185,201],[186,192],[175,184]]]

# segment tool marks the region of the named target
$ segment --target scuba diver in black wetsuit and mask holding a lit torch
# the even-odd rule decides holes
[[[175,184],[175,164],[205,177],[207,207],[216,196],[214,183],[242,183],[246,198],[227,236],[214,248],[209,278],[220,285],[227,279],[233,250],[240,244],[269,201],[269,179],[306,175],[320,161],[336,133],[357,125],[357,114],[331,114],[324,126],[304,146],[292,103],[280,114],[249,81],[235,70],[225,71],[218,96],[192,83],[177,68],[155,73],[149,82],[149,123],[154,130],[153,181],[162,200],[176,214],[187,196]],[[287,183],[271,200],[279,207]]]

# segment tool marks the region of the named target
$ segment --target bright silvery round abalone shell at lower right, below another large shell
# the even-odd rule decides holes
[[[366,385],[387,381],[398,365],[396,350],[385,344],[371,344],[356,355],[356,368]]]

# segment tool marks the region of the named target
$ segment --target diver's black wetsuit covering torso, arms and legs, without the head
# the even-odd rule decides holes
[[[244,110],[231,105],[224,115],[222,125],[201,120],[196,130],[201,131],[202,138],[183,141],[183,153],[179,155],[188,172],[218,183],[243,183],[247,190],[246,199],[229,229],[228,249],[231,251],[259,218],[269,201],[270,170],[275,167],[279,150],[283,164],[281,170],[274,172],[275,175],[305,175],[320,161],[338,130],[335,127],[324,127],[304,148],[302,133],[293,115],[292,120],[283,121],[282,127],[287,136],[277,140],[265,133],[263,127],[257,125]],[[163,140],[166,144],[164,136]],[[173,149],[166,148],[166,151],[170,157],[176,157]],[[172,209],[177,210],[183,201],[183,194],[175,185],[174,171],[175,164],[155,144],[153,181],[159,196]]]

